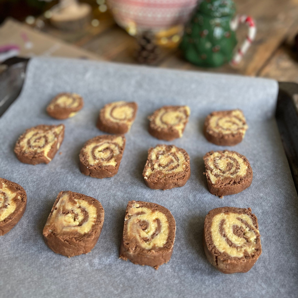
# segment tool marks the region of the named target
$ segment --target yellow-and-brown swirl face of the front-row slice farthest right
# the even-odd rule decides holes
[[[256,248],[260,246],[260,233],[247,214],[216,214],[212,219],[210,232],[215,248],[231,257],[253,257]]]

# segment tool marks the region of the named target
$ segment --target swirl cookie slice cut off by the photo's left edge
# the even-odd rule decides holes
[[[21,219],[27,194],[21,185],[0,178],[0,236],[9,232]]]

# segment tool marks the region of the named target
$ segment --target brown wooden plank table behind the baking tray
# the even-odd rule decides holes
[[[235,0],[235,2],[237,12],[251,15],[257,24],[256,39],[238,66],[232,67],[227,64],[216,69],[199,68],[185,61],[177,47],[162,48],[156,66],[261,76],[298,83],[298,53],[292,50],[294,36],[298,32],[298,0]],[[100,21],[98,27],[89,25],[79,32],[61,32],[45,22],[45,26],[40,30],[89,50],[101,59],[136,63],[133,55],[135,38],[118,27],[109,12],[100,13],[95,6],[93,15]],[[239,30],[239,41],[246,36],[246,31],[245,26]]]

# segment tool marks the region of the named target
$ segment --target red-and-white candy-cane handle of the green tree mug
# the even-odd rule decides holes
[[[230,61],[230,64],[232,65],[237,65],[242,60],[243,55],[247,52],[251,43],[254,41],[257,31],[255,21],[250,16],[236,15],[235,18],[232,19],[230,27],[233,31],[235,31],[238,28],[239,24],[246,24],[248,26],[248,34],[243,44],[240,46],[240,48],[237,50],[234,57]]]

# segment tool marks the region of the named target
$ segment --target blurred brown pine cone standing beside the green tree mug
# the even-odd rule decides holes
[[[150,31],[144,32],[137,38],[138,48],[135,56],[141,64],[154,64],[159,58],[159,48],[154,43],[154,35]]]

